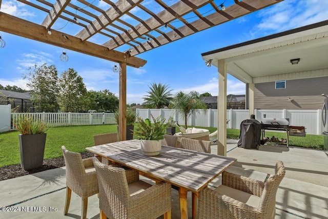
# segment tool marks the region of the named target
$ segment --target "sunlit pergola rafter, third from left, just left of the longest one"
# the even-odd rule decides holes
[[[152,16],[147,19],[144,23],[140,23],[136,25],[134,28],[128,30],[128,33],[121,33],[119,36],[115,37],[115,39],[111,39],[110,41],[103,44],[110,49],[114,49],[119,47],[132,39],[139,37],[140,35],[144,35],[156,28],[159,28],[163,24],[174,21],[174,19],[183,16],[185,14],[190,13],[191,11],[199,8],[203,5],[209,3],[208,0],[190,0],[188,4],[185,3],[187,1],[179,1],[176,4],[170,7],[170,10],[163,10],[156,14],[156,17]],[[192,8],[193,6],[194,8]],[[160,22],[158,21],[160,19]],[[142,49],[141,49],[142,51]]]

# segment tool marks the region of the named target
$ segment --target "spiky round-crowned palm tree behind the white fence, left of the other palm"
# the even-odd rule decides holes
[[[170,93],[172,90],[168,90],[168,85],[163,85],[159,83],[158,85],[156,83],[153,83],[150,86],[148,86],[150,91],[147,91],[149,95],[145,95],[145,105],[148,105],[152,108],[161,109],[163,107],[169,106],[171,100],[172,100],[172,94]]]

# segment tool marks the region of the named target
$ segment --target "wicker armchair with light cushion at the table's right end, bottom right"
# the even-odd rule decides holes
[[[276,193],[284,175],[281,161],[265,183],[223,172],[221,186],[199,192],[197,218],[275,218]]]

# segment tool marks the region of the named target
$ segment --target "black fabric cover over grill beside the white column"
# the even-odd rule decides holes
[[[245,149],[258,148],[261,144],[261,123],[254,118],[240,123],[238,147]]]

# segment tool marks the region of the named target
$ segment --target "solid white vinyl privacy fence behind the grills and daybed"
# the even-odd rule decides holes
[[[321,134],[323,125],[321,120],[321,109],[318,110],[255,110],[255,118],[261,121],[267,118],[289,118],[290,126],[304,126],[308,134]],[[141,118],[151,119],[161,116],[168,121],[172,116],[179,125],[185,125],[185,119],[174,109],[137,109],[137,114]],[[240,129],[240,123],[249,118],[249,110],[227,110],[227,128]],[[217,127],[217,109],[201,110],[198,114],[192,115],[187,121],[188,126]]]

